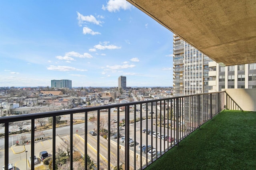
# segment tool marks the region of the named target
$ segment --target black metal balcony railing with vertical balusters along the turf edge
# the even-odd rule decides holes
[[[35,127],[35,120],[40,118],[52,117],[52,164],[56,164],[56,117],[69,115],[70,136],[73,136],[73,117],[76,113],[84,114],[84,164],[87,167],[87,156],[92,147],[88,147],[90,131],[89,115],[95,114],[95,132],[97,134],[94,150],[96,150],[95,167],[101,169],[105,162],[107,169],[144,169],[146,166],[157,160],[162,154],[170,150],[174,145],[184,139],[188,134],[199,128],[206,121],[212,119],[222,109],[224,109],[225,92],[204,93],[198,95],[189,95],[181,97],[171,97],[164,99],[153,99],[148,101],[137,101],[124,104],[104,105],[98,107],[87,107],[81,109],[71,109],[64,111],[52,111],[45,113],[31,113],[26,115],[14,115],[1,117],[0,124],[4,123],[4,164],[8,170],[9,163],[9,123],[17,121],[31,121],[31,127]],[[102,113],[102,111],[105,111]],[[106,124],[102,127],[102,119]],[[112,119],[118,123],[113,124]],[[122,123],[120,123],[120,121]],[[90,124],[91,125],[91,124]],[[119,138],[113,139],[110,132],[112,126],[116,126],[117,134],[120,133],[120,126],[124,125],[124,144],[121,144]],[[145,128],[145,133],[142,129]],[[106,129],[104,139],[100,134],[102,129]],[[151,135],[149,133],[151,129]],[[154,133],[153,133],[154,132]],[[158,135],[159,134],[159,135]],[[129,138],[132,137],[135,144],[130,146]],[[102,146],[106,143],[105,146]],[[149,153],[150,147],[143,150],[142,145],[151,146],[155,150]],[[140,150],[138,150],[140,146]],[[73,138],[70,137],[70,148],[73,148]],[[102,154],[102,150],[107,153]],[[112,153],[114,152],[114,154]],[[31,128],[31,157],[35,155],[35,129]],[[102,156],[104,155],[104,156]],[[89,155],[90,156],[90,155]],[[104,158],[103,158],[104,157]],[[70,152],[70,169],[73,169],[73,152]],[[55,166],[53,166],[55,168]],[[34,161],[31,162],[31,169],[34,170]]]

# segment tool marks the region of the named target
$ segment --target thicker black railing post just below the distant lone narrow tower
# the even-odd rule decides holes
[[[125,169],[128,170],[130,167],[130,148],[129,148],[129,138],[130,138],[130,129],[129,129],[129,105],[125,106]]]

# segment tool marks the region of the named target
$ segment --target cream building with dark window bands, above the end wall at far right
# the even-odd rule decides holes
[[[209,92],[222,89],[256,89],[256,63],[222,67],[215,61],[209,62]]]

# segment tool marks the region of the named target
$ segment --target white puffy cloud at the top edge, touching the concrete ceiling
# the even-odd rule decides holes
[[[109,0],[107,6],[102,5],[102,10],[108,10],[109,12],[120,11],[120,9],[128,10],[132,5],[126,0]]]

